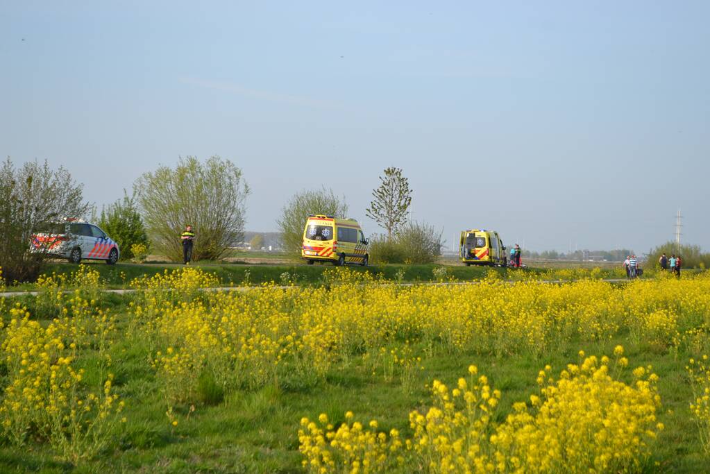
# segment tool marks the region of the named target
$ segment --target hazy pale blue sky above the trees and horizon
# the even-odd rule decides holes
[[[0,153],[118,199],[221,155],[275,230],[295,192],[367,233],[384,167],[413,216],[536,250],[710,248],[710,3],[14,2],[0,11]]]

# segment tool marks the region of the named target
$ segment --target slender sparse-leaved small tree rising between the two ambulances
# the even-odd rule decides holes
[[[392,234],[407,221],[412,189],[400,168],[388,167],[380,181],[380,186],[373,189],[373,200],[366,213],[387,231],[387,238],[391,239]]]

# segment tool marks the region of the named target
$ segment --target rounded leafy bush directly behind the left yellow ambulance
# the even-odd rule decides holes
[[[345,197],[337,197],[332,189],[316,189],[294,194],[281,209],[281,216],[276,221],[281,233],[283,249],[287,253],[300,255],[303,243],[303,229],[310,214],[345,217],[348,205]]]

